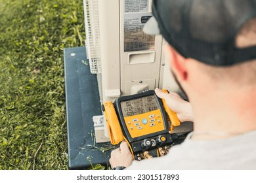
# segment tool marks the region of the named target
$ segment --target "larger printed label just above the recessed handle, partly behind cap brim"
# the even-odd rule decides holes
[[[154,49],[155,36],[142,31],[151,16],[151,12],[124,14],[124,52]]]

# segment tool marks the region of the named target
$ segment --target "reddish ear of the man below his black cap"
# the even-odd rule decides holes
[[[170,54],[171,68],[181,80],[188,78],[188,72],[186,69],[186,59],[182,57],[176,50],[171,46],[167,45],[167,52]]]

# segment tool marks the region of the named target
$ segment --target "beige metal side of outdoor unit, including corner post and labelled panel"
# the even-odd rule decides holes
[[[102,99],[154,90],[163,83],[163,39],[143,33],[150,0],[98,0]]]

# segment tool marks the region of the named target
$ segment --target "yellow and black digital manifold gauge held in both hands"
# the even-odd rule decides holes
[[[112,144],[127,141],[133,156],[172,144],[169,131],[173,126],[180,125],[177,114],[152,90],[119,97],[114,103],[107,101],[102,110]]]

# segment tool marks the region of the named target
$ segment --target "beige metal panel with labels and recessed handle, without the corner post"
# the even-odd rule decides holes
[[[151,1],[119,1],[121,93],[131,95],[159,87],[162,37],[142,29],[152,16]]]

